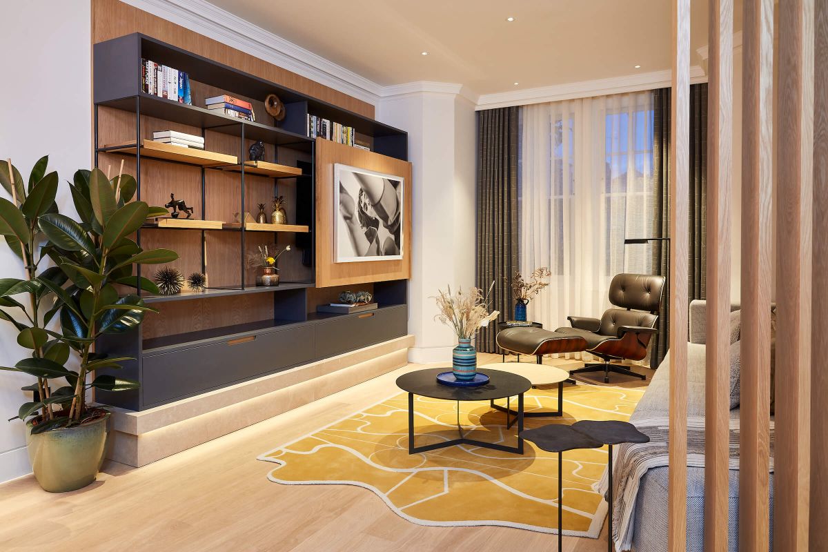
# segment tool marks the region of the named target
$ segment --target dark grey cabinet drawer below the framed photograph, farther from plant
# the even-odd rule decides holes
[[[408,310],[406,305],[399,305],[349,314],[320,322],[315,325],[315,331],[315,357],[332,357],[402,337],[408,331]]]

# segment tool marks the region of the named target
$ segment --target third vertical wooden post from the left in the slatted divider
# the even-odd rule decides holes
[[[768,550],[773,0],[744,0],[742,18],[742,382],[739,550]]]

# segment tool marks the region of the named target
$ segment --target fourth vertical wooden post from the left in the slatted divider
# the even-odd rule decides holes
[[[814,0],[780,2],[779,17],[773,550],[792,552],[808,548],[811,474]]]

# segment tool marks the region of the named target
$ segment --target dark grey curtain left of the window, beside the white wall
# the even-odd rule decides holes
[[[502,321],[513,307],[503,278],[517,270],[517,118],[518,108],[477,112],[477,286],[494,281],[491,308]],[[481,329],[477,350],[497,353],[496,324]]]

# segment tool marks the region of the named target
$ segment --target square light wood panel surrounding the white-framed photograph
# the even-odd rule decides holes
[[[402,260],[335,262],[334,165],[355,166],[405,179],[402,200]],[[316,139],[316,286],[345,286],[371,281],[407,280],[412,259],[412,164],[372,151]]]

